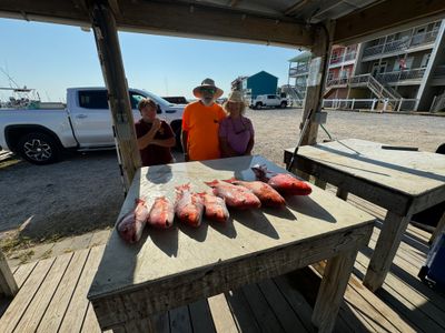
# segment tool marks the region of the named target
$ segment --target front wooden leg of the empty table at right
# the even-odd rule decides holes
[[[363,284],[370,291],[379,289],[385,281],[411,215],[400,216],[388,211],[380,230]]]

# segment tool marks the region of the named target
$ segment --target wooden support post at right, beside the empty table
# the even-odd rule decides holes
[[[303,138],[301,145],[306,144],[315,144],[317,142],[318,134],[318,123],[314,122],[316,112],[319,112],[322,109],[323,101],[323,92],[325,90],[326,83],[326,73],[328,71],[329,64],[329,54],[330,54],[330,38],[334,31],[333,24],[328,26],[318,26],[315,31],[315,39],[317,42],[314,44],[310,50],[313,53],[313,58],[310,60],[309,65],[309,77],[307,79],[307,88],[306,88],[306,97],[305,97],[305,105],[303,111],[303,121],[300,124],[300,129],[303,129],[303,124],[309,114],[310,110],[314,110],[310,122],[308,124],[308,129]]]

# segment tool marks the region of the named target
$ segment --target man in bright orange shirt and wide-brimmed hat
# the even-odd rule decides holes
[[[215,100],[222,95],[222,90],[214,80],[205,79],[194,89],[194,95],[199,100],[189,103],[182,115],[184,158],[186,162],[219,159],[219,122],[226,112]]]

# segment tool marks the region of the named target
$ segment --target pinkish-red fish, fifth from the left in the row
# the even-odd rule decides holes
[[[226,204],[239,210],[256,209],[261,206],[259,199],[248,189],[214,180],[205,182],[214,189],[214,194],[226,200]]]

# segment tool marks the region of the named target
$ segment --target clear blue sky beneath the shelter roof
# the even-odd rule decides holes
[[[287,60],[298,53],[258,44],[119,32],[128,83],[159,95],[185,95],[207,77],[225,91],[238,75],[265,70],[287,83]],[[0,19],[0,68],[43,101],[65,100],[70,87],[103,85],[92,31]],[[9,85],[0,71],[0,87]],[[4,98],[4,93],[0,94]]]

